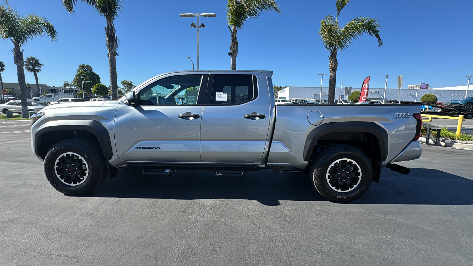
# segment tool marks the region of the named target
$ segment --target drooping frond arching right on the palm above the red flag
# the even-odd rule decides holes
[[[361,35],[367,33],[378,40],[378,46],[383,45],[383,41],[379,36],[379,21],[376,18],[358,17],[350,20],[345,27],[340,30],[340,40],[338,44],[340,50],[344,50],[350,44],[358,39]]]

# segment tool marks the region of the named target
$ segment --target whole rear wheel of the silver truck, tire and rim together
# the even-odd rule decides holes
[[[325,199],[349,202],[365,194],[373,178],[366,154],[349,145],[331,145],[310,162],[312,184]]]

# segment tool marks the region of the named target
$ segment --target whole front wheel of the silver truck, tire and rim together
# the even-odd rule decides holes
[[[96,144],[70,139],[55,144],[44,158],[49,183],[66,195],[87,194],[107,177],[105,158]]]

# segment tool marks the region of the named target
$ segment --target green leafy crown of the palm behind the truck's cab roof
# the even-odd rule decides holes
[[[242,28],[247,19],[258,18],[266,11],[276,11],[281,14],[275,0],[228,0],[228,25]]]

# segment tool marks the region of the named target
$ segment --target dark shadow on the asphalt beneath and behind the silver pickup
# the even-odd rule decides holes
[[[401,174],[384,168],[380,183],[349,204],[434,204],[471,205],[473,180],[443,171],[411,168]],[[280,201],[325,201],[307,174],[278,175],[272,170],[248,172],[245,177],[216,177],[211,171],[176,171],[170,177],[145,176],[139,171],[120,169],[118,177],[88,197],[153,199],[247,199],[268,206]]]

